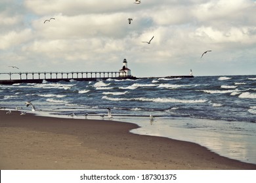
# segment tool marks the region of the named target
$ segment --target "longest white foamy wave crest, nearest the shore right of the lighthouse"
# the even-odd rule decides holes
[[[145,97],[137,97],[137,98],[112,98],[103,96],[102,99],[107,99],[109,101],[149,101],[155,103],[205,103],[207,100],[198,99],[198,100],[186,100],[186,99],[173,99],[173,98],[145,98]]]

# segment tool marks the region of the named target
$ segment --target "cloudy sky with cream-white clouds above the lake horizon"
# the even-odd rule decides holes
[[[256,74],[256,1],[134,2],[1,0],[0,72],[118,71],[126,58],[135,76]]]

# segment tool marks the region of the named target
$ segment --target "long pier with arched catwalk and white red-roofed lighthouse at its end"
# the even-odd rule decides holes
[[[2,80],[3,76],[8,75],[9,79]],[[113,79],[137,79],[131,75],[131,70],[127,68],[127,60],[123,60],[123,67],[119,71],[72,71],[72,72],[16,72],[16,73],[0,73],[0,84],[16,84],[16,83],[41,83],[43,80],[49,82],[70,80],[106,80]]]

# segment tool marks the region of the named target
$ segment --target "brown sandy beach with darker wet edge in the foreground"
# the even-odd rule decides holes
[[[135,124],[0,111],[0,168],[256,169],[191,142],[135,135]]]

